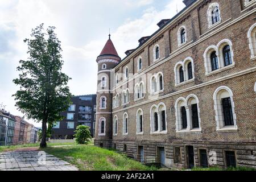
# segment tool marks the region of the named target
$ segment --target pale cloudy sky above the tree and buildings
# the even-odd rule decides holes
[[[18,77],[18,61],[27,58],[23,39],[29,38],[31,28],[40,23],[57,28],[72,94],[91,94],[97,86],[96,57],[109,28],[119,56],[125,57],[127,49],[138,46],[139,38],[158,29],[156,23],[176,14],[176,5],[179,11],[184,7],[182,0],[1,0],[0,104],[23,115],[11,97],[17,90],[12,80]]]

